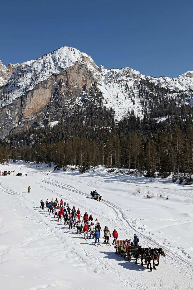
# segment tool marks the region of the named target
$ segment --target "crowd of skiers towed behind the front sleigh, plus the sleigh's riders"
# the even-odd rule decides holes
[[[85,212],[85,214],[83,215],[83,219],[82,215],[80,213],[80,209],[75,209],[75,206],[73,206],[73,208],[71,209],[69,204],[66,202],[63,202],[63,200],[60,200],[60,204],[56,198],[56,200],[54,200],[52,198],[51,202],[48,201],[48,199],[46,200],[46,202],[43,202],[43,199],[41,199],[40,201],[40,208],[42,207],[42,210],[44,210],[44,205],[45,207],[48,208],[48,212],[49,214],[54,214],[54,218],[58,218],[58,221],[62,221],[62,216],[64,218],[64,225],[69,225],[68,229],[71,228],[72,230],[72,225],[74,223],[74,229],[76,227],[77,229],[77,234],[83,234],[84,233],[84,239],[85,237],[87,239],[92,239],[95,238],[95,242],[94,245],[96,245],[96,242],[98,242],[98,244],[100,245],[100,231],[101,230],[101,226],[100,223],[98,222],[97,218],[95,220],[93,220],[92,214],[90,216],[88,216],[88,213]],[[90,232],[90,235],[89,235]],[[103,229],[104,235],[104,243],[109,244],[109,237],[111,237],[111,233],[108,229],[107,226],[104,227]],[[116,240],[118,238],[118,233],[116,231],[116,229],[114,229],[114,231],[112,232],[112,237],[113,237],[113,244],[115,245]],[[127,240],[126,240],[127,241]],[[129,240],[130,241],[130,240]],[[138,242],[139,242],[139,238],[136,236],[136,234],[134,235],[134,243],[136,246],[138,246]],[[129,245],[129,244],[128,244]],[[131,245],[131,244],[130,244]]]

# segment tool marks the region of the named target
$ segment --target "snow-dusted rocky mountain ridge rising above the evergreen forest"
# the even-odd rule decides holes
[[[153,78],[132,68],[107,70],[98,68],[89,55],[68,47],[21,65],[3,66],[0,62],[0,80],[4,82],[0,89],[1,137],[59,121],[85,102],[94,101],[90,93],[94,83],[103,94],[103,104],[113,107],[119,119],[128,110],[143,116],[137,89],[140,80],[175,90],[172,97],[176,91],[193,90],[192,71],[177,78]],[[192,97],[187,92],[189,104]]]

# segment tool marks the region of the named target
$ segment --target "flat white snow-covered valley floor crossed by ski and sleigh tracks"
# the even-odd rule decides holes
[[[165,289],[173,281],[180,289],[192,289],[192,186],[173,183],[171,177],[107,173],[102,166],[82,175],[71,170],[53,172],[53,168],[25,162],[0,165],[1,173],[15,170],[0,177],[1,289],[147,290],[153,289],[154,281],[160,289],[160,277]],[[28,176],[17,177],[17,172]],[[90,190],[95,189],[103,202],[90,199]],[[153,197],[147,199],[147,192]],[[116,228],[120,239],[131,240],[136,233],[142,247],[162,247],[166,257],[150,272],[141,267],[140,260],[135,265],[134,260],[116,255],[114,246],[103,244],[103,239],[103,247],[95,247],[93,240],[83,240],[74,229],[68,230],[63,219],[58,222],[46,208],[39,208],[41,198],[45,202],[56,197],[71,209],[79,208],[82,216],[85,211],[92,214],[102,230],[107,225],[112,234]]]

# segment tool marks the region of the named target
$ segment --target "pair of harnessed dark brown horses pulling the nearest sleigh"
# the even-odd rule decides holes
[[[135,258],[136,258],[135,264],[137,264],[137,259],[139,258],[139,256],[141,256],[141,266],[142,267],[143,267],[143,259],[144,259],[145,263],[147,264],[147,268],[149,268],[149,265],[150,265],[150,271],[152,271],[151,260],[153,260],[153,269],[156,270],[154,261],[158,261],[156,266],[159,265],[160,255],[165,257],[165,253],[164,253],[162,248],[159,248],[159,249],[157,249],[157,248],[154,248],[154,249],[150,249],[150,248],[138,249],[137,253],[135,255]]]

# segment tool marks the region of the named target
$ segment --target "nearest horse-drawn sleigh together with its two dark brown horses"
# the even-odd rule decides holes
[[[116,254],[121,256],[125,260],[135,259],[135,264],[137,264],[137,260],[141,259],[141,266],[143,267],[143,259],[147,264],[147,268],[150,266],[150,271],[152,271],[151,261],[153,260],[153,269],[156,270],[155,266],[159,265],[160,256],[165,257],[165,253],[162,248],[142,248],[141,246],[132,246],[128,247],[124,244],[125,240],[117,240],[115,243]],[[157,261],[155,264],[154,261]]]

